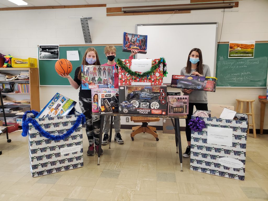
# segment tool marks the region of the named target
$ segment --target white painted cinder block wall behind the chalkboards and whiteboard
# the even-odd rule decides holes
[[[189,3],[189,1],[151,2],[139,5],[165,5]],[[107,7],[138,6],[137,4],[107,4]],[[225,12],[221,41],[230,40],[268,40],[268,1],[239,1],[235,12]],[[2,54],[11,54],[17,58],[37,58],[39,44],[84,44],[79,18],[92,17],[90,32],[95,44],[122,43],[122,32],[135,32],[135,24],[147,23],[198,23],[219,22],[220,38],[223,10],[197,10],[187,14],[143,15],[143,16],[106,16],[106,8],[73,8],[44,10],[0,11],[0,50]],[[226,9],[225,11],[231,11]],[[7,24],[6,19],[10,23]],[[165,31],[163,30],[163,35]],[[176,33],[174,33],[176,37]],[[196,33],[198,37],[198,32]],[[202,40],[200,38],[200,40]],[[99,53],[103,54],[103,53]],[[165,55],[163,55],[165,56]],[[167,61],[168,63],[168,61]],[[181,64],[185,65],[185,64]],[[75,68],[75,67],[74,67]],[[172,68],[172,66],[169,66]],[[213,68],[211,68],[213,69]],[[40,75],[42,76],[42,75]],[[55,92],[62,93],[78,101],[78,91],[72,87],[40,87],[41,107],[46,105]],[[259,128],[259,94],[266,94],[264,88],[217,88],[215,93],[208,92],[209,107],[213,104],[234,105],[236,98],[255,99],[255,121]],[[77,106],[77,109],[79,107]],[[125,118],[122,118],[122,124]],[[185,120],[181,120],[184,126]],[[152,124],[153,125],[153,124]],[[154,125],[159,125],[157,122]],[[264,129],[268,129],[268,108]]]

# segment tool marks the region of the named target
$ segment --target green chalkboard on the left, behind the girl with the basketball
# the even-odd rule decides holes
[[[85,53],[85,50],[88,47],[94,47],[99,55],[99,60],[101,64],[107,63],[107,57],[104,54],[105,46],[59,46],[59,58],[67,58],[66,51],[78,50],[80,61],[71,61],[73,65],[73,70],[70,73],[72,78],[75,75],[75,69],[78,66],[81,66],[82,59]],[[130,55],[129,52],[122,52],[122,46],[116,47],[116,59],[127,59]],[[115,59],[115,60],[116,60]],[[55,63],[57,60],[39,60],[39,80],[40,85],[70,85],[68,79],[60,77],[55,71]]]

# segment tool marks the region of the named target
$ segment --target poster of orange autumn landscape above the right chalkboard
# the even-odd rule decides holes
[[[230,41],[228,58],[254,58],[255,41]]]

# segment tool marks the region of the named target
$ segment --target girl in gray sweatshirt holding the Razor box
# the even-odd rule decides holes
[[[187,66],[181,69],[180,75],[211,76],[209,66],[203,64],[202,52],[200,49],[194,48],[190,51]],[[185,128],[188,146],[183,154],[184,157],[188,158],[191,154],[191,129],[190,126],[188,126],[188,121],[193,114],[193,106],[195,106],[196,110],[208,110],[207,92],[185,88],[182,89],[182,92],[184,93],[183,95],[189,96],[189,113],[187,115]]]

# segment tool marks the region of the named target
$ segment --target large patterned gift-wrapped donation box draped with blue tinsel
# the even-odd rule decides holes
[[[52,135],[66,133],[80,113],[59,117],[35,118],[43,130]],[[29,115],[29,114],[28,114]],[[29,124],[28,141],[32,177],[83,167],[82,124],[63,140],[48,139]]]

